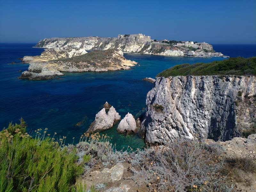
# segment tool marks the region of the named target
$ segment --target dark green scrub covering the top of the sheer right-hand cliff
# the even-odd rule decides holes
[[[166,69],[157,76],[187,76],[187,75],[256,75],[256,57],[229,58],[228,60],[211,63],[196,63],[176,65]]]

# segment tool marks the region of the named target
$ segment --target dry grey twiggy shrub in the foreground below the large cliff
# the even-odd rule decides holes
[[[224,191],[219,171],[222,158],[214,148],[197,141],[177,141],[133,156],[130,170],[137,184],[150,191]],[[219,188],[217,190],[217,188]]]

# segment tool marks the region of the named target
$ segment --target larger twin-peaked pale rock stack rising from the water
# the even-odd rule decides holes
[[[95,120],[92,122],[86,133],[109,129],[120,119],[121,116],[116,112],[116,109],[113,106],[109,109],[108,114],[106,114],[106,110],[103,108],[96,114]]]

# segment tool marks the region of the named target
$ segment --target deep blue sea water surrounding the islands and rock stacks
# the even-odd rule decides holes
[[[18,79],[21,74],[18,71],[28,68],[28,64],[20,63],[18,58],[40,55],[43,51],[32,48],[34,45],[0,44],[0,126],[7,127],[11,121],[19,123],[20,117],[23,117],[28,131],[47,127],[49,133],[67,136],[69,143],[72,143],[73,137],[75,142],[79,140],[105,101],[113,105],[122,118],[127,112],[138,116],[145,107],[147,92],[153,87],[153,84],[142,80],[144,77],[155,77],[162,70],[177,64],[225,59],[125,54],[127,59],[137,61],[140,66],[115,72],[65,73],[59,79],[46,81]],[[227,45],[225,48],[225,45],[214,45],[213,48],[230,56],[256,56],[255,45],[241,46]],[[76,126],[81,121],[84,123]],[[117,143],[117,148],[144,146],[137,134],[118,134],[116,126],[105,132],[113,137],[112,142]]]

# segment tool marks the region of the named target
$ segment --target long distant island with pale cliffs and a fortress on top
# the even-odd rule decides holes
[[[46,38],[39,41],[35,47],[40,48],[60,48],[75,47],[84,50],[107,50],[119,49],[129,53],[156,54],[167,56],[223,56],[216,53],[212,49],[212,45],[207,43],[198,44],[167,44],[161,42],[153,42],[150,36],[142,34],[134,35],[118,35],[117,38],[112,37],[67,37],[67,38]],[[194,50],[194,52],[189,52]],[[207,50],[207,52],[205,52]]]

